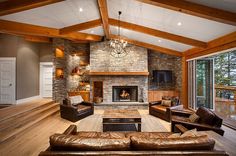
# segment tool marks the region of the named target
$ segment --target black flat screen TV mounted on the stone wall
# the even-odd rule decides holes
[[[153,70],[153,82],[160,84],[172,83],[171,70]]]

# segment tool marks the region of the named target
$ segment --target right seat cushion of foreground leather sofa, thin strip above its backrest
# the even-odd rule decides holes
[[[127,138],[135,137],[144,137],[144,138],[167,138],[170,136],[171,132],[129,132],[126,134]]]

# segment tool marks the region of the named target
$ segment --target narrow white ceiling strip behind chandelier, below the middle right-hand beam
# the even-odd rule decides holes
[[[111,34],[114,34],[114,35],[118,34],[118,27],[111,26],[110,30],[111,30]],[[192,48],[192,46],[189,46],[189,45],[185,45],[182,43],[178,43],[178,42],[174,42],[174,41],[170,41],[170,40],[166,40],[166,39],[162,39],[162,38],[157,38],[154,36],[150,36],[147,34],[135,32],[135,31],[131,31],[128,29],[123,29],[123,28],[120,29],[120,34],[121,34],[121,36],[125,36],[129,39],[133,39],[133,40],[137,40],[137,41],[141,41],[141,42],[145,42],[145,43],[177,50],[180,52],[183,52],[185,50]]]

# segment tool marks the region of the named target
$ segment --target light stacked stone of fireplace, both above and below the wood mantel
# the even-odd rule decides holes
[[[148,72],[147,49],[129,45],[127,51],[127,56],[115,58],[108,42],[91,43],[90,72]],[[138,100],[147,102],[147,76],[91,76],[90,81],[103,81],[103,103],[112,104],[112,86],[138,86]],[[92,99],[92,92],[90,95]]]

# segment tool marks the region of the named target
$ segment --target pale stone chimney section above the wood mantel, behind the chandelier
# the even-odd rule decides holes
[[[132,72],[148,71],[147,49],[129,45],[128,54],[122,58],[110,55],[108,42],[96,42],[90,44],[90,67],[91,71],[105,72]]]

